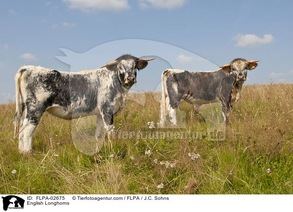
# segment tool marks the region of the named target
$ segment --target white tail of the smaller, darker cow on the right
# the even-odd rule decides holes
[[[161,106],[160,106],[160,126],[164,127],[165,122],[166,122],[166,115],[167,115],[167,102],[166,98],[168,96],[168,91],[167,91],[167,77],[168,77],[169,70],[165,70],[162,73],[162,99],[161,99]]]

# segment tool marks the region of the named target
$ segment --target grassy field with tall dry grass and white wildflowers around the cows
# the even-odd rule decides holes
[[[115,130],[166,131],[147,124],[158,122],[159,107],[151,93],[145,106],[128,101]],[[92,156],[76,150],[71,122],[46,113],[34,134],[34,154],[22,155],[13,140],[15,103],[0,105],[0,193],[292,194],[293,84],[244,86],[233,109],[224,141],[112,139]],[[207,130],[191,105],[180,110],[187,122],[180,131]],[[86,127],[93,131],[94,119]]]

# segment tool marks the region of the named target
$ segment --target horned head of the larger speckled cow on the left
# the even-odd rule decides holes
[[[117,72],[121,84],[130,89],[136,83],[136,71],[146,68],[147,61],[153,59],[155,58],[143,59],[132,55],[123,55],[112,62],[108,62],[101,68],[106,67],[108,70]]]

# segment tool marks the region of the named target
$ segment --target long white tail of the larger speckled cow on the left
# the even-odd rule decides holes
[[[14,115],[14,139],[16,139],[20,130],[20,119],[21,119],[21,75],[25,70],[20,68],[16,73],[15,79],[15,100],[16,100],[16,110]]]

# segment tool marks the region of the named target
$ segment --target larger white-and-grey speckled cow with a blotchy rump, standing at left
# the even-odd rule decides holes
[[[100,69],[77,73],[22,66],[15,76],[14,136],[19,134],[19,150],[32,152],[33,133],[45,111],[67,120],[96,115],[95,136],[99,137],[103,126],[109,131],[113,117],[126,106],[137,70],[152,59],[123,55]]]

